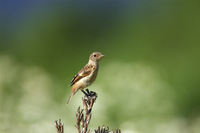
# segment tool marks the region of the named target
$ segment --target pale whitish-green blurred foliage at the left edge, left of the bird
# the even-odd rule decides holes
[[[48,93],[52,85],[50,76],[39,67],[20,65],[5,55],[0,57],[0,66],[0,94],[1,97],[7,95],[1,98],[0,131],[53,133],[55,115],[47,110],[51,102]],[[4,94],[6,91],[10,94]],[[19,93],[17,97],[16,92]]]

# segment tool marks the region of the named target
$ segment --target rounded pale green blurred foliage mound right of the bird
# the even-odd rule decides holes
[[[173,88],[147,64],[112,62],[100,75],[105,89],[101,103],[107,106],[116,105],[123,113],[132,113],[130,116],[166,114],[175,109]]]

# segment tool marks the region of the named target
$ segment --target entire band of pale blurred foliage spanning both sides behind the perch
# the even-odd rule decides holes
[[[21,65],[5,55],[0,56],[0,73],[0,132],[55,133],[54,120],[59,118],[65,132],[77,132],[75,111],[81,105],[82,92],[77,92],[69,105],[68,97],[60,105],[55,104],[49,93],[55,81],[48,73],[37,66]],[[7,90],[6,86],[12,89]],[[123,133],[200,132],[200,117],[188,123],[174,114],[173,88],[156,67],[110,62],[101,66],[97,81],[89,89],[98,93],[90,129],[106,124]],[[119,127],[111,127],[112,116]]]

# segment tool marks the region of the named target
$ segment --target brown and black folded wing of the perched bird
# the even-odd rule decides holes
[[[74,85],[76,82],[78,82],[80,79],[82,79],[85,76],[88,76],[93,71],[94,66],[93,65],[86,65],[83,69],[81,69],[78,74],[74,76],[72,79],[70,86]]]

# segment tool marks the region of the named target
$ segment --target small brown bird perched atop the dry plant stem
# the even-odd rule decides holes
[[[104,55],[102,55],[100,52],[94,52],[90,54],[88,63],[78,72],[78,74],[74,76],[70,83],[70,86],[73,85],[73,87],[67,104],[79,89],[83,90],[96,80],[99,70],[99,61],[102,57],[104,57]]]

